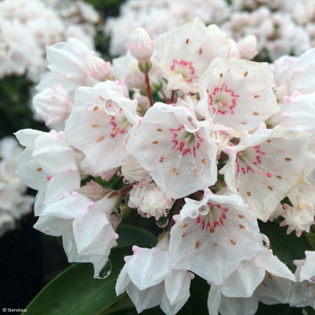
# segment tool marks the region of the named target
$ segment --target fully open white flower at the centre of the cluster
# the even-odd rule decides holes
[[[217,147],[210,124],[193,108],[155,103],[137,131],[132,156],[171,198],[181,198],[216,181]]]

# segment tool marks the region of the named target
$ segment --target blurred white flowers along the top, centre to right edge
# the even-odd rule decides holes
[[[220,25],[234,41],[255,35],[261,59],[275,60],[283,54],[299,56],[315,46],[314,4],[308,0],[232,0],[230,6],[223,0],[130,0],[117,18],[106,22],[104,32],[111,36],[110,53],[119,55],[125,53],[136,27],[145,28],[155,39],[199,16],[205,24]]]

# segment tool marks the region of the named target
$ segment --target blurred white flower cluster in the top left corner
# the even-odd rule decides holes
[[[46,68],[45,47],[76,37],[93,49],[98,20],[93,7],[81,1],[1,1],[0,78],[26,73],[38,82]]]

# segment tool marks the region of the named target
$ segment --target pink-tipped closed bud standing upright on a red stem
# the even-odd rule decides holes
[[[149,60],[153,54],[154,41],[142,27],[136,28],[130,37],[130,43],[127,43],[131,54],[139,61]]]

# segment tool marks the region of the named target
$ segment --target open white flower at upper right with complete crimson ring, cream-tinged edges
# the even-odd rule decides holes
[[[218,58],[199,82],[210,116],[235,131],[253,130],[279,112],[267,63]]]

